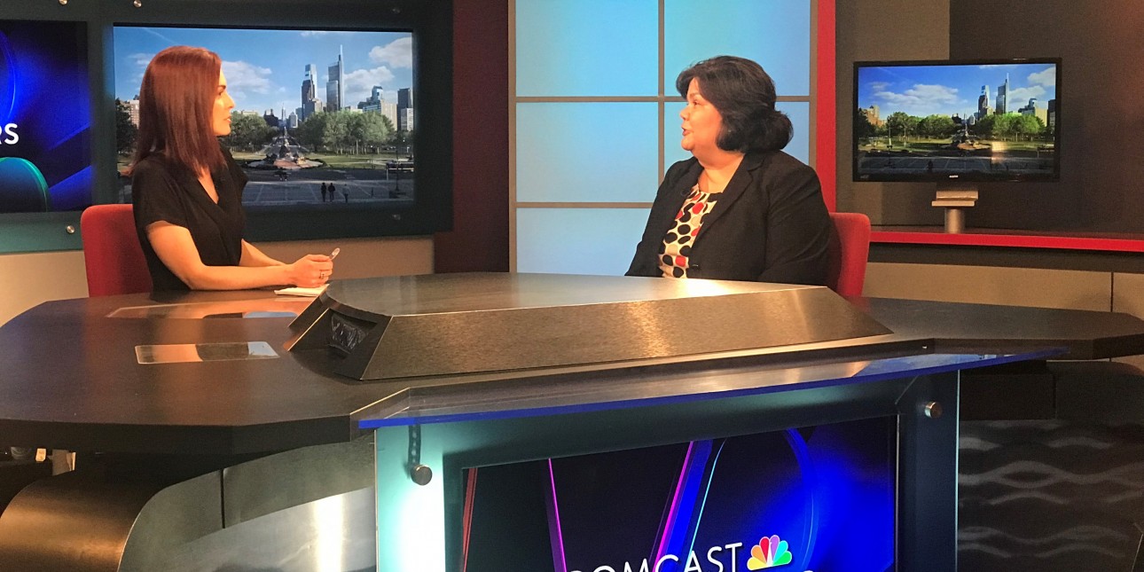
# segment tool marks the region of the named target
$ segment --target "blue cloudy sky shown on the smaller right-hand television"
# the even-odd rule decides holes
[[[1057,96],[1056,65],[887,65],[858,70],[858,106],[877,105],[884,119],[895,111],[925,117],[966,117],[977,111],[982,86],[988,86],[990,108],[996,106],[998,86],[1009,74],[1009,111],[1036,97],[1044,109]]]

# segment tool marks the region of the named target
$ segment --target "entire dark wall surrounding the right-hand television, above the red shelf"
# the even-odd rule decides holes
[[[874,224],[939,225],[932,183],[855,183],[856,59],[1060,57],[1062,177],[988,183],[971,228],[1144,233],[1144,2],[839,2],[839,209]],[[893,15],[895,24],[887,23]],[[944,27],[943,27],[944,26]]]

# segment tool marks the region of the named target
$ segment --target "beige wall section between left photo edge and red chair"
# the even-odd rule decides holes
[[[0,255],[0,324],[41,302],[86,295],[80,251]]]

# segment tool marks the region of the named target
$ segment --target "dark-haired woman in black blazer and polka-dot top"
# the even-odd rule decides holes
[[[718,56],[675,87],[693,157],[664,175],[627,275],[825,284],[829,214],[815,170],[781,151],[793,129],[771,78]]]

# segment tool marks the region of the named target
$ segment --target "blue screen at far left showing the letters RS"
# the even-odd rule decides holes
[[[87,24],[0,19],[0,213],[92,204]]]

